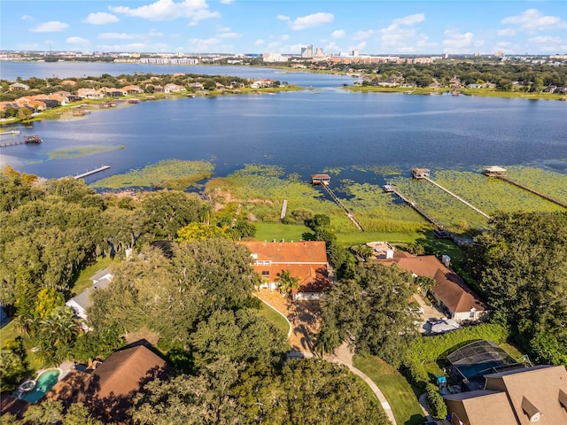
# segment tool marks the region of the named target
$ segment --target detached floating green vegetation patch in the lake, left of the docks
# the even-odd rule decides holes
[[[213,175],[213,170],[214,165],[208,161],[166,159],[128,173],[114,174],[90,186],[96,189],[159,187],[183,190],[208,179]]]

